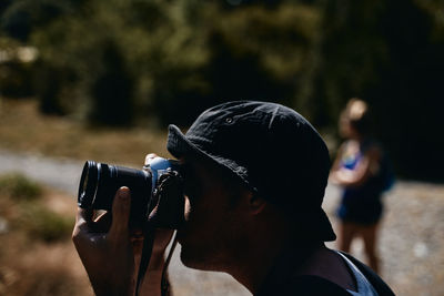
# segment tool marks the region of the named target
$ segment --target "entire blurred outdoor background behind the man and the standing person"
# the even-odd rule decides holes
[[[397,176],[382,277],[397,295],[444,295],[443,86],[442,0],[2,0],[0,295],[92,294],[70,242],[84,160],[169,156],[169,123],[185,131],[232,100],[295,109],[333,157],[355,96]],[[339,195],[329,185],[335,227]],[[360,242],[352,253],[365,261]],[[171,277],[175,295],[249,295],[176,257]]]

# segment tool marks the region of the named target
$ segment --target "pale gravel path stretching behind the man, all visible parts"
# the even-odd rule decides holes
[[[0,173],[21,172],[74,196],[83,163],[0,151]],[[340,190],[330,185],[324,208],[337,221],[334,208]],[[385,215],[379,242],[382,277],[396,295],[444,295],[444,185],[400,181],[384,197]],[[329,244],[335,247],[334,243]],[[250,295],[221,273],[184,267],[175,251],[170,275],[175,295]],[[365,262],[363,245],[356,241],[352,254]]]

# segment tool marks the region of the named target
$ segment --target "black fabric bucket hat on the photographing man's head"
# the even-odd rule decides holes
[[[294,110],[270,102],[223,103],[204,111],[185,135],[171,124],[167,147],[175,157],[214,161],[268,202],[304,217],[317,238],[336,238],[321,207],[329,151]]]

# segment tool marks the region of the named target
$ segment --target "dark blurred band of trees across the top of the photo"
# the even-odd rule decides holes
[[[400,176],[444,181],[442,0],[9,0],[0,53],[3,98],[92,125],[185,127],[266,100],[337,139],[359,96]]]

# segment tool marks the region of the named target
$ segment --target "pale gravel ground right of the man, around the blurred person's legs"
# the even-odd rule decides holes
[[[329,214],[336,192],[331,188],[326,196]],[[400,181],[384,202],[379,242],[382,277],[396,295],[444,295],[444,186]],[[365,261],[360,241],[352,253]]]

